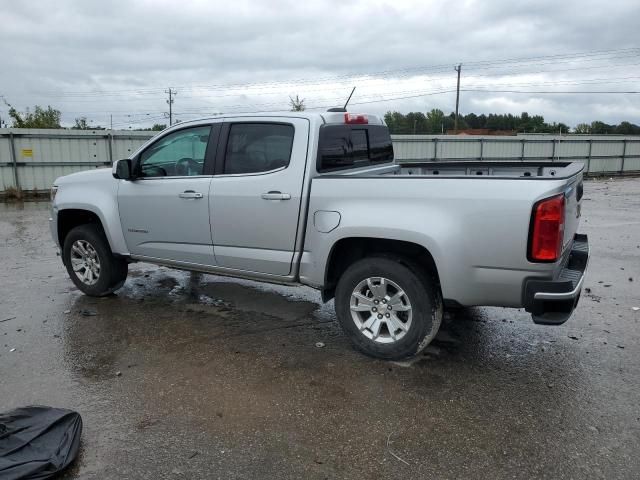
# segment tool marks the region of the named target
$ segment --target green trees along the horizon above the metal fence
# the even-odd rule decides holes
[[[64,128],[60,125],[62,114],[51,106],[46,108],[36,105],[33,110],[27,108],[25,112],[19,112],[11,105],[9,117],[13,128]],[[293,111],[305,109],[304,99],[297,96],[290,98],[290,106]],[[427,113],[387,112],[384,116],[392,134],[442,134],[452,131],[455,125],[455,113],[446,115],[442,110],[434,108]],[[156,123],[150,128],[138,130],[158,131],[164,130],[166,124]],[[103,126],[90,125],[86,117],[75,119],[73,130],[104,130]],[[503,130],[518,133],[584,133],[584,134],[623,134],[640,135],[640,126],[630,122],[621,122],[617,125],[609,125],[605,122],[594,121],[590,124],[580,123],[573,130],[564,123],[548,123],[542,115],[529,115],[523,112],[520,115],[496,114],[488,115],[468,113],[458,118],[458,129],[489,129]]]

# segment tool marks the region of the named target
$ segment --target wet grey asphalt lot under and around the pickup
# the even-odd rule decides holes
[[[464,309],[404,363],[303,287],[136,264],[86,297],[47,209],[0,204],[0,410],[82,414],[66,479],[640,477],[640,179],[586,183],[568,323]]]

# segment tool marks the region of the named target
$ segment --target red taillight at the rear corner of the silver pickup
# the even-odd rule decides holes
[[[533,207],[529,260],[555,262],[562,253],[564,194],[547,198]]]

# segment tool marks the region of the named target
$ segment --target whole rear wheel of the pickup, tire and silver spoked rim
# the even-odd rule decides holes
[[[409,262],[385,257],[364,258],[347,268],[335,306],[353,345],[385,360],[419,353],[442,323],[442,298],[429,276]]]

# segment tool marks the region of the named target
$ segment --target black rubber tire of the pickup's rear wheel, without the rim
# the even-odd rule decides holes
[[[400,287],[411,305],[410,325],[406,331],[396,330],[404,336],[391,343],[380,343],[368,338],[366,334],[373,335],[372,330],[365,328],[361,331],[351,315],[351,296],[356,287],[368,278],[379,277]],[[388,288],[397,292],[391,285]],[[442,297],[435,281],[418,265],[402,258],[368,257],[353,263],[338,281],[335,308],[342,329],[353,345],[366,355],[384,360],[401,360],[422,351],[438,333],[443,316]],[[379,310],[376,316],[382,313]],[[367,311],[363,315],[366,317],[373,314]],[[391,338],[391,328],[384,325],[386,324],[378,332],[387,329],[387,336]]]

